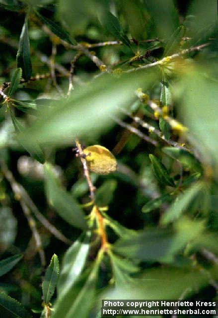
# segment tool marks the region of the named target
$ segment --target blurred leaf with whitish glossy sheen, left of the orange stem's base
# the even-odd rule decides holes
[[[65,253],[60,278],[58,281],[58,296],[72,288],[81,274],[90,248],[91,233],[83,233]]]

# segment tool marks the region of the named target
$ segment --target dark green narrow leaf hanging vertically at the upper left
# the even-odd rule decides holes
[[[30,60],[27,17],[25,18],[25,22],[20,34],[19,49],[17,52],[17,67],[22,69],[24,79],[30,79],[32,74],[32,64]]]

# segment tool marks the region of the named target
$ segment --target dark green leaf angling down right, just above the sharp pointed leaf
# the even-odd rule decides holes
[[[181,162],[184,167],[189,168],[192,171],[202,173],[202,166],[200,162],[188,151],[174,147],[164,147],[162,151],[166,155]]]

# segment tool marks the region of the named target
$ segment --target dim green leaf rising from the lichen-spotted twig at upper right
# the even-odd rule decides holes
[[[173,53],[177,52],[179,49],[180,42],[185,34],[185,28],[183,25],[180,25],[168,39],[164,52],[164,56],[172,55]]]

